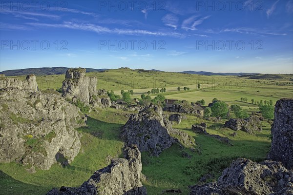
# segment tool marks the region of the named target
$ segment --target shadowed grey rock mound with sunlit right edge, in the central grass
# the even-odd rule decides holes
[[[153,156],[158,156],[175,142],[184,145],[192,145],[193,142],[188,134],[173,129],[171,122],[163,116],[162,108],[152,104],[130,116],[121,137],[127,144],[135,144],[141,152],[148,151]]]

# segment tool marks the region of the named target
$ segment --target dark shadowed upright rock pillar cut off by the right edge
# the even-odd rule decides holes
[[[293,99],[283,98],[276,102],[271,134],[269,158],[293,169]]]

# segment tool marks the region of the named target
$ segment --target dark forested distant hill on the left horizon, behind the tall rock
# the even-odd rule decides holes
[[[52,67],[52,68],[26,68],[19,70],[6,70],[0,72],[0,74],[4,74],[5,76],[22,76],[22,75],[30,75],[34,74],[36,76],[44,76],[44,75],[63,75],[69,68],[67,67]],[[108,69],[93,69],[86,68],[86,72],[101,72]]]

